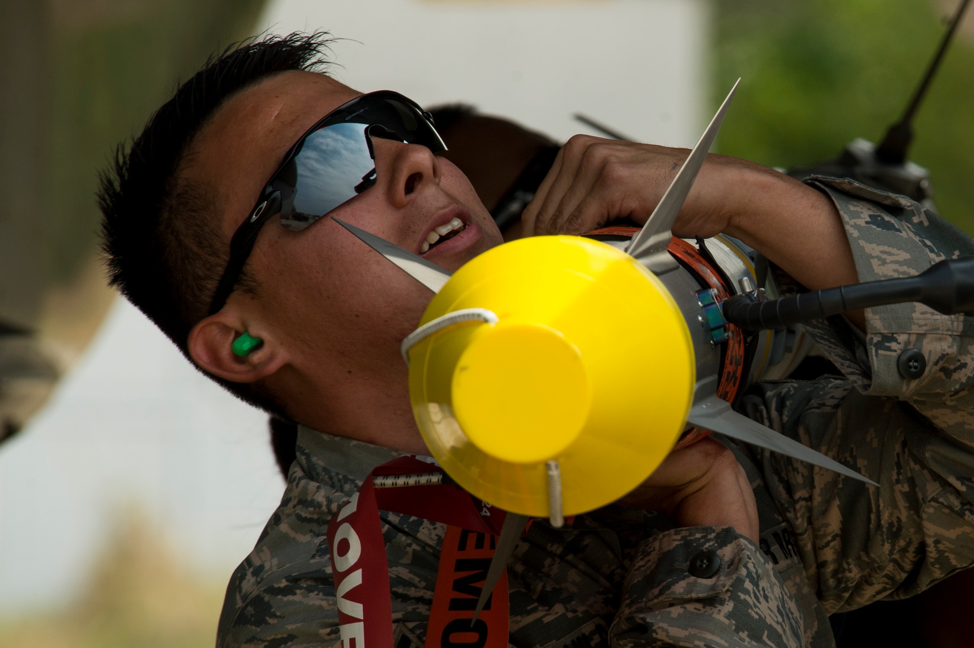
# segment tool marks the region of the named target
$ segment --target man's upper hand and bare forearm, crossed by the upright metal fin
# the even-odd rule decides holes
[[[582,234],[622,217],[645,223],[689,155],[576,135],[525,207],[522,235]],[[859,280],[832,200],[753,162],[708,155],[672,231],[688,238],[730,234],[811,290]],[[864,326],[861,311],[847,314]]]

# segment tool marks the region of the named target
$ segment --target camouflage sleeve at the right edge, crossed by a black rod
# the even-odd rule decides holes
[[[860,281],[974,255],[974,241],[908,198],[812,178],[843,219]],[[788,277],[783,277],[786,281]],[[845,379],[756,385],[752,418],[880,483],[865,486],[764,450],[757,456],[827,612],[918,594],[974,564],[974,318],[904,304],[805,325]],[[897,363],[916,349],[919,378]]]

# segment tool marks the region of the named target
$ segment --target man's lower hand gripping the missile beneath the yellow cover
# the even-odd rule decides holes
[[[670,452],[618,503],[664,513],[678,526],[733,526],[758,542],[754,491],[731,450],[713,439]]]

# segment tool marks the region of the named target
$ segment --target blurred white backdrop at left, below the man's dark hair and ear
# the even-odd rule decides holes
[[[282,487],[266,414],[117,299],[47,407],[0,447],[0,610],[65,602],[129,508],[225,580]]]

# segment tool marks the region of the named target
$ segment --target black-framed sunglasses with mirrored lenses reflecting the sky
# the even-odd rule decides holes
[[[325,115],[291,147],[230,239],[210,315],[227,303],[268,219],[280,213],[283,227],[300,232],[375,185],[374,137],[446,151],[430,113],[392,90],[362,94]]]

